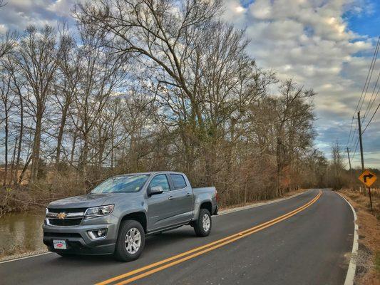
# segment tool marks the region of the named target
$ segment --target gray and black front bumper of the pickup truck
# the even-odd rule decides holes
[[[118,236],[117,219],[112,215],[81,222],[78,226],[60,227],[43,224],[43,244],[50,252],[67,254],[113,254]],[[89,230],[107,229],[106,237],[91,239]],[[67,249],[54,249],[53,239],[66,241]]]

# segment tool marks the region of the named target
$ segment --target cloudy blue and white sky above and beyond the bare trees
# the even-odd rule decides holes
[[[0,33],[7,29],[22,31],[29,24],[56,25],[70,19],[77,0],[6,1],[0,9]],[[280,79],[294,78],[299,85],[318,93],[314,98],[316,146],[327,156],[336,140],[346,147],[351,119],[380,34],[380,1],[225,0],[224,19],[247,28],[248,52],[260,67],[272,69]],[[371,97],[379,93],[380,81],[374,89],[379,72],[380,56],[361,106],[363,115]],[[364,127],[379,103],[380,95],[367,111]],[[355,128],[353,125],[352,131]],[[349,143],[351,155],[356,135],[357,130]],[[380,110],[363,140],[366,167],[380,167]],[[354,166],[359,166],[359,158],[357,147]]]

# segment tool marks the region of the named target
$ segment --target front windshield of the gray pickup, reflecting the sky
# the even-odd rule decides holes
[[[98,193],[132,193],[138,192],[143,187],[149,175],[125,175],[111,177],[98,185],[91,194]]]

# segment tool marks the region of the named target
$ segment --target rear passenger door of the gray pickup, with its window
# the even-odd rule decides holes
[[[178,173],[170,173],[171,196],[175,207],[175,222],[189,222],[192,218],[192,189],[185,177]]]

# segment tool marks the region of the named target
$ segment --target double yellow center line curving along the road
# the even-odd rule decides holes
[[[196,247],[195,249],[191,249],[188,252],[183,252],[183,253],[177,254],[173,257],[169,257],[168,259],[163,259],[163,260],[155,262],[153,264],[143,266],[139,269],[129,271],[125,274],[115,276],[113,278],[102,281],[96,285],[108,285],[108,284],[114,283],[115,281],[119,281],[120,279],[124,279],[124,280],[118,282],[117,285],[128,284],[130,282],[133,282],[133,281],[136,281],[138,279],[142,279],[146,276],[149,276],[151,274],[154,274],[155,272],[162,271],[164,269],[167,269],[168,267],[175,266],[176,264],[180,264],[183,261],[187,261],[187,260],[192,259],[194,257],[197,257],[201,254],[205,254],[206,252],[211,252],[214,249],[222,247],[226,244],[230,244],[231,242],[235,242],[238,239],[242,239],[243,237],[247,237],[250,234],[253,234],[255,232],[259,232],[262,229],[265,229],[265,228],[270,227],[274,224],[277,224],[278,222],[281,222],[284,219],[289,219],[289,217],[292,217],[292,216],[294,216],[294,214],[302,212],[304,209],[306,209],[310,205],[317,202],[317,200],[319,199],[319,197],[321,197],[321,195],[322,195],[322,191],[319,190],[318,195],[316,197],[314,197],[314,199],[307,202],[303,206],[301,206],[297,209],[294,209],[292,212],[289,212],[287,214],[283,214],[282,216],[279,216],[279,217],[272,219],[268,222],[259,224],[255,227],[251,227],[250,229],[245,229],[244,231],[238,232],[237,234],[232,234],[232,235],[225,237],[223,239],[218,239],[215,242],[210,242],[209,244],[202,245],[202,247]],[[141,273],[141,272],[143,272],[143,273]],[[132,277],[130,277],[130,276],[132,276]],[[127,277],[130,277],[130,278],[126,279]]]

